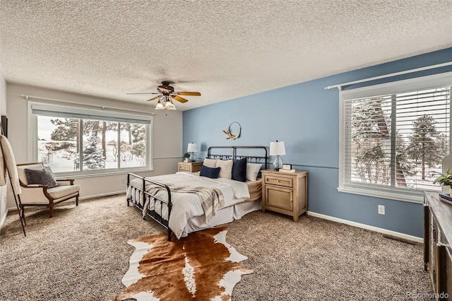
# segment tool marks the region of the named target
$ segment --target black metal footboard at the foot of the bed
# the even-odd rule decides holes
[[[131,183],[132,179],[141,179],[141,187],[138,187]],[[165,189],[167,191],[167,197],[160,198],[156,194],[151,194],[150,192],[146,191],[146,186],[153,185],[154,187],[160,187],[161,189]],[[136,206],[141,211],[143,211],[143,206],[145,205],[146,201],[149,201],[148,208],[146,211],[146,215],[153,220],[155,220],[157,223],[162,225],[163,228],[167,229],[168,232],[168,241],[171,241],[171,233],[172,230],[169,228],[169,216],[171,214],[171,208],[172,208],[172,202],[171,202],[171,191],[169,190],[169,187],[165,184],[155,182],[151,179],[146,179],[145,177],[141,177],[139,175],[135,175],[131,172],[127,174],[127,189],[131,187],[131,196],[127,197],[127,206],[129,206],[130,203],[133,204],[133,206]],[[161,189],[158,189],[161,191]],[[141,205],[141,201],[143,201],[143,205]],[[160,203],[160,213],[157,212],[157,206],[156,204]],[[164,204],[168,208],[168,218],[165,220],[163,218],[163,206]],[[153,206],[151,206],[153,205]],[[150,208],[154,208],[151,210]],[[145,219],[145,216],[143,216],[143,219]]]

